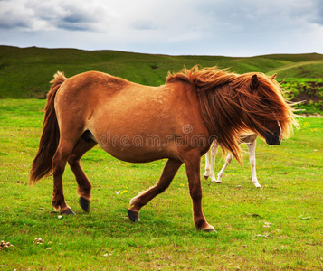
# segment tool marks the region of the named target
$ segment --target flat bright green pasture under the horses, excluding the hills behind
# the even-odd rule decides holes
[[[299,120],[301,128],[279,146],[258,139],[261,189],[252,184],[247,154],[243,167],[229,166],[222,184],[203,181],[204,214],[216,229],[204,233],[194,227],[184,166],[133,223],[129,200],[157,182],[166,161],[123,163],[99,147],[82,159],[93,183],[90,214],[78,205],[69,168],[65,198],[77,215],[52,212],[52,178],[27,183],[44,105],[0,100],[0,240],[14,245],[0,250],[1,270],[323,268],[323,118]],[[216,170],[222,165],[218,156]]]

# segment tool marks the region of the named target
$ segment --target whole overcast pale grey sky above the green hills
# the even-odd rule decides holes
[[[323,0],[0,0],[0,44],[171,55],[323,53]]]

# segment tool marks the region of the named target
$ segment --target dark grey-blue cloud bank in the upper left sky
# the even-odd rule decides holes
[[[24,28],[28,31],[95,31],[105,15],[100,5],[83,1],[12,0],[0,2],[0,27]]]

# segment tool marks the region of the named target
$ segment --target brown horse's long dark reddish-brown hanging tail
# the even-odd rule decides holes
[[[54,108],[57,90],[66,80],[62,72],[58,71],[52,79],[52,88],[47,95],[45,117],[43,120],[43,133],[39,143],[38,153],[33,159],[29,182],[35,183],[52,173],[52,157],[56,152],[60,140],[60,129]]]

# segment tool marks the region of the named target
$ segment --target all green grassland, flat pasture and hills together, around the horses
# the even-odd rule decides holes
[[[222,184],[203,179],[211,233],[195,230],[184,166],[139,222],[128,219],[129,200],[157,182],[166,160],[128,164],[95,147],[81,160],[93,184],[89,214],[69,167],[64,193],[76,216],[53,211],[52,177],[28,185],[45,106],[36,98],[57,70],[68,77],[100,70],[157,86],[168,70],[195,64],[277,72],[291,100],[306,100],[303,113],[323,114],[323,55],[315,53],[229,58],[0,46],[0,241],[14,245],[0,245],[0,270],[323,269],[323,118],[299,119],[300,129],[279,146],[258,139],[261,189],[252,184],[248,154],[243,167],[233,161]],[[218,155],[216,172],[222,165]]]

